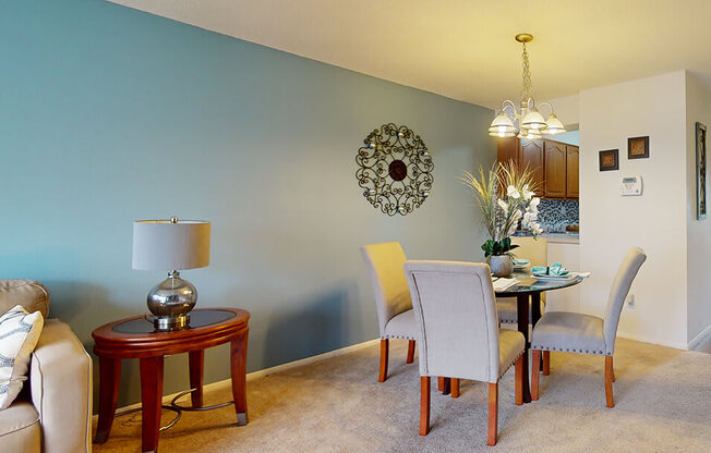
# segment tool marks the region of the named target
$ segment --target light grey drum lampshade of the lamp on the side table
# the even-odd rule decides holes
[[[202,220],[133,222],[133,269],[182,270],[209,266],[210,223]]]

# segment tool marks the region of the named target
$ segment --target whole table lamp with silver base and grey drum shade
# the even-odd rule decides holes
[[[197,302],[195,286],[180,270],[209,265],[210,223],[202,220],[137,220],[133,222],[133,269],[162,270],[168,278],[148,293],[149,317],[156,329],[189,325]]]

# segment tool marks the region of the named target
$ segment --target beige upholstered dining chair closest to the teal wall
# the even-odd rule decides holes
[[[406,257],[397,242],[371,244],[361,247],[367,266],[377,305],[381,331],[381,370],[378,382],[387,379],[389,339],[408,340],[407,363],[414,359],[414,314],[408,282],[405,279]]]

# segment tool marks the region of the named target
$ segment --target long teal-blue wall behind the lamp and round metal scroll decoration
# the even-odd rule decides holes
[[[377,336],[363,244],[483,258],[457,176],[495,161],[489,109],[101,1],[2,2],[0,42],[0,278],[45,283],[88,351],[165,278],[131,269],[136,219],[213,222],[210,266],[182,276],[200,307],[252,313],[250,371]],[[407,217],[372,208],[354,177],[388,122],[435,162]],[[205,381],[227,360],[209,350]],[[166,394],[188,388],[186,362],[166,360]],[[120,405],[138,401],[138,364],[122,375]]]

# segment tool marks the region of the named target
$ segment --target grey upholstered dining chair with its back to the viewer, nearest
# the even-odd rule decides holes
[[[420,436],[430,431],[430,378],[489,382],[487,444],[496,444],[498,382],[516,364],[516,404],[523,404],[523,335],[499,330],[489,266],[480,262],[408,261],[420,351]]]

